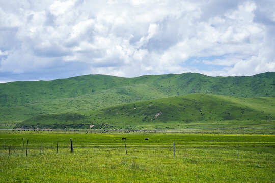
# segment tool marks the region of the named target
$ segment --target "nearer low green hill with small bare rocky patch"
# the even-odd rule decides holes
[[[275,128],[274,105],[275,98],[269,97],[189,94],[91,111],[38,115],[16,128]]]

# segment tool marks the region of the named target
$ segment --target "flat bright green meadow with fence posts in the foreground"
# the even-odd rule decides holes
[[[101,132],[2,130],[0,181],[275,181],[273,132],[251,131],[233,134],[225,131],[224,133],[218,131],[214,133]],[[127,155],[122,137],[127,138]],[[73,140],[74,153],[67,152],[70,138]],[[145,138],[149,140],[144,140]],[[28,157],[26,157],[27,139],[29,139]],[[173,142],[176,148],[175,157]],[[40,143],[42,143],[41,155]],[[57,143],[59,143],[58,154]],[[8,157],[10,145],[11,151]]]

